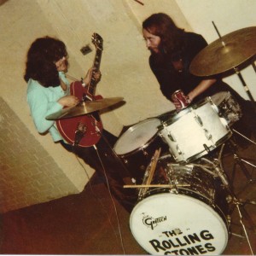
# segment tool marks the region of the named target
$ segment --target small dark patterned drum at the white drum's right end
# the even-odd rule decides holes
[[[212,102],[218,106],[218,115],[226,119],[229,125],[233,125],[241,119],[241,107],[231,96],[230,91],[221,91],[211,96]]]

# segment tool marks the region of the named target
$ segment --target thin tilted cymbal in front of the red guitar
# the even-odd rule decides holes
[[[91,102],[79,102],[75,107],[62,108],[60,111],[49,114],[45,119],[67,119],[75,116],[79,116],[86,113],[92,113],[103,108],[108,108],[114,104],[123,101],[123,97],[110,97],[101,100]]]

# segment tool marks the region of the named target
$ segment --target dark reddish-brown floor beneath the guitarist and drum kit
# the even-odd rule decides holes
[[[256,168],[245,164],[236,166],[237,155],[256,164],[256,146],[236,148],[236,155],[224,147],[224,172],[239,200],[256,201]],[[240,159],[238,159],[240,160]],[[244,163],[244,161],[242,161]],[[233,181],[232,181],[232,177]],[[232,207],[230,207],[232,209]],[[256,234],[247,212],[256,222],[256,206],[240,207],[242,223],[247,230],[253,253],[256,253]],[[245,210],[245,211],[244,211]],[[253,254],[238,218],[235,207],[231,211],[230,237],[223,254]],[[188,213],[189,214],[189,213]],[[96,179],[79,195],[69,195],[1,216],[0,253],[6,254],[148,254],[131,234],[130,214],[113,200],[103,183]]]

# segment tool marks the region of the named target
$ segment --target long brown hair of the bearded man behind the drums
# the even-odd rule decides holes
[[[143,29],[160,37],[160,47],[167,55],[178,55],[183,49],[184,30],[169,15],[158,13],[143,21]]]

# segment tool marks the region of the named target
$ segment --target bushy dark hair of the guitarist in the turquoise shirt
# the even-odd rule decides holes
[[[44,87],[60,85],[55,62],[67,56],[65,44],[56,38],[37,38],[27,52],[24,79],[37,80]]]

